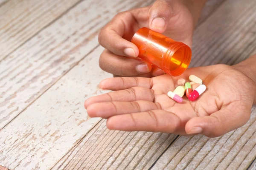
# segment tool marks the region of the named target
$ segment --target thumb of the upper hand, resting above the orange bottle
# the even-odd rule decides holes
[[[149,28],[163,33],[171,17],[178,11],[180,10],[177,0],[157,0],[149,9]]]

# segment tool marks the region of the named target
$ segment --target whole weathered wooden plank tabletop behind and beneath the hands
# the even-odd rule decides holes
[[[9,169],[256,169],[256,108],[218,138],[108,130],[83,102],[112,77],[100,28],[153,0],[0,0],[0,165]],[[256,1],[209,0],[191,66],[256,54]],[[253,162],[254,161],[254,162]]]

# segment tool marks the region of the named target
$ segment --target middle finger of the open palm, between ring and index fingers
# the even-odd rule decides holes
[[[139,100],[134,102],[102,102],[87,107],[90,117],[108,119],[111,116],[161,109],[159,103]]]

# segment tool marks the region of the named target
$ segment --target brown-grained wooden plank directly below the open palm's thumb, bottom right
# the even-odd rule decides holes
[[[224,136],[212,139],[201,135],[180,136],[152,170],[238,169],[256,144],[255,132],[256,107],[246,125]],[[256,156],[256,153],[253,155]]]

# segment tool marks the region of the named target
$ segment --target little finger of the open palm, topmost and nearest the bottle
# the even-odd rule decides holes
[[[100,88],[112,91],[123,90],[137,86],[151,89],[153,86],[152,79],[143,77],[115,77],[104,79],[99,83]]]

